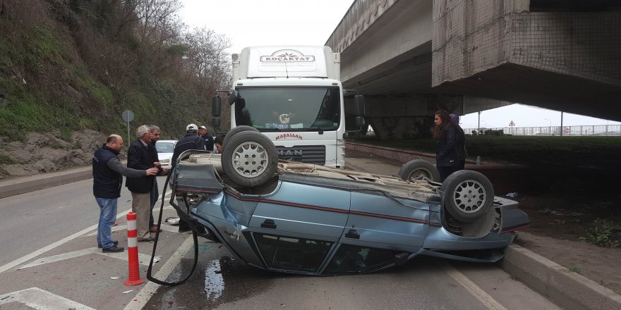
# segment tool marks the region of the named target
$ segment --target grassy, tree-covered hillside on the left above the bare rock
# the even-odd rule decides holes
[[[164,137],[181,135],[188,123],[209,126],[210,97],[230,84],[228,41],[210,30],[188,32],[174,14],[179,1],[155,2],[166,6],[3,1],[0,139],[123,133],[126,109],[135,113],[132,128],[157,124]]]

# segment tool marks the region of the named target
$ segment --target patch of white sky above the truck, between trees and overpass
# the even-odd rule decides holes
[[[354,0],[181,0],[182,20],[246,46],[324,45]]]

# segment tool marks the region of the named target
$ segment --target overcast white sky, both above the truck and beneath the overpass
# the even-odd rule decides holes
[[[207,27],[231,39],[229,54],[246,46],[323,45],[354,0],[181,0],[180,16],[190,27]],[[513,104],[481,112],[481,127],[558,126],[560,112]],[[463,128],[478,127],[478,113],[462,116]],[[619,122],[563,113],[563,125]]]

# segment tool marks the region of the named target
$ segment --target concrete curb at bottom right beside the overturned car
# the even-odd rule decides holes
[[[621,295],[517,244],[500,266],[565,309],[621,309]]]

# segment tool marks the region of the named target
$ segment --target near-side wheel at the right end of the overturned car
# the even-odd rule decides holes
[[[442,186],[442,205],[455,219],[471,223],[485,216],[494,205],[494,187],[476,171],[461,170],[449,175]]]

